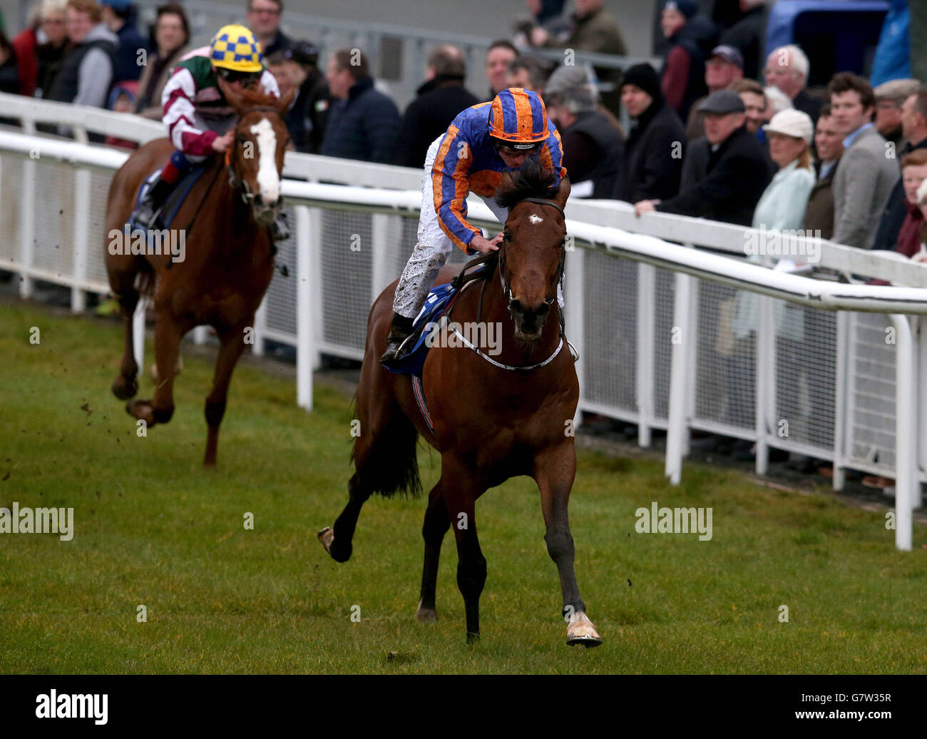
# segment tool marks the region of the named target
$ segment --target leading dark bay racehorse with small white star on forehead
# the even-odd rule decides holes
[[[455,324],[500,326],[502,350],[489,356],[485,347],[474,350],[472,342],[469,348],[456,339],[432,342],[422,387],[434,433],[416,405],[410,376],[393,375],[379,363],[397,283],[376,299],[357,391],[360,435],[351,454],[355,472],[348,484],[349,502],[334,529],[319,532],[325,550],[345,562],[361,507],[371,494],[420,491],[415,446],[421,434],[441,454],[441,477],[428,495],[422,527],[425,567],[416,618],[437,618],[438,555],[452,526],[467,642],[479,636],[479,595],[486,581],[486,559],[476,537],[476,499],[508,478],[527,475],[538,483],[544,541],[560,574],[566,643],[602,643],[579,597],[566,514],[576,475],[571,428],[579,383],[556,315],[565,257],[563,208],[570,185],[564,178],[552,189],[552,178],[537,159],[528,159],[514,178],[503,174],[499,203],[509,215],[499,258],[487,262],[491,273],[482,284],[473,281],[464,287],[451,315]],[[438,284],[455,272],[442,269]]]

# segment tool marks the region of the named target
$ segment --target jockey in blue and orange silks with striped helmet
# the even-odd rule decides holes
[[[491,103],[466,108],[451,121],[447,133],[428,147],[418,243],[396,287],[392,330],[381,362],[401,356],[402,342],[412,334],[413,320],[455,246],[468,254],[499,249],[502,234],[487,239],[467,223],[467,195],[473,192],[482,197],[504,224],[508,210],[494,199],[502,172],[517,170],[532,156],[540,157],[544,168],[555,172],[553,186],[559,185],[566,174],[560,134],[548,121],[540,96],[520,87],[502,90]],[[558,300],[562,304],[559,287]]]

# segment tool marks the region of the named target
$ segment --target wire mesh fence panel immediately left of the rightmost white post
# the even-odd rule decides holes
[[[895,328],[880,313],[850,313],[848,417],[849,466],[895,468]]]

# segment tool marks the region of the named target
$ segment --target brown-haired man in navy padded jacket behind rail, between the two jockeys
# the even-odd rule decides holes
[[[339,49],[328,57],[325,77],[334,102],[319,153],[383,164],[392,161],[400,111],[374,89],[367,57],[357,49]]]

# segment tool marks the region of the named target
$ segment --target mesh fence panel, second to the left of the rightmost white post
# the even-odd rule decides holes
[[[837,314],[776,300],[773,446],[799,442],[831,458]]]

